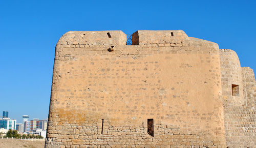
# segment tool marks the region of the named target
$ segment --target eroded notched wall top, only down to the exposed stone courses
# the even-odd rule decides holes
[[[122,31],[68,32],[57,43],[72,47],[120,47],[126,46],[126,35]],[[132,35],[134,47],[189,47],[203,50],[210,47],[218,51],[219,46],[214,42],[188,37],[183,31],[137,31]],[[67,46],[69,47],[69,46]],[[90,48],[87,48],[90,50]],[[117,50],[121,50],[120,48]],[[141,49],[138,49],[141,50]]]

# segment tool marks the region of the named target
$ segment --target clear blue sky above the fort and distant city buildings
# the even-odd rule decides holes
[[[1,1],[0,111],[45,119],[55,45],[68,31],[182,29],[256,70],[256,1]]]

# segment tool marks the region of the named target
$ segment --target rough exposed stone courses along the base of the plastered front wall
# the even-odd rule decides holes
[[[225,141],[214,141],[207,132],[195,134],[177,126],[155,124],[154,137],[143,123],[139,127],[114,127],[106,122],[101,130],[100,123],[51,127],[45,147],[225,147]]]

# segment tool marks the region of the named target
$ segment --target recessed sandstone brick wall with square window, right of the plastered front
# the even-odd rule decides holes
[[[254,147],[256,87],[253,71],[241,68],[238,55],[233,50],[220,51],[227,146]],[[239,85],[239,96],[232,96],[232,84]]]

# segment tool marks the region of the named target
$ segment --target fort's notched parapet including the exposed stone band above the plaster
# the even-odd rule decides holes
[[[126,35],[121,31],[68,32],[58,41],[55,58],[65,61],[91,55],[138,58],[154,54],[219,54],[218,44],[187,37],[183,31],[137,31],[132,39],[133,45],[126,45]]]

